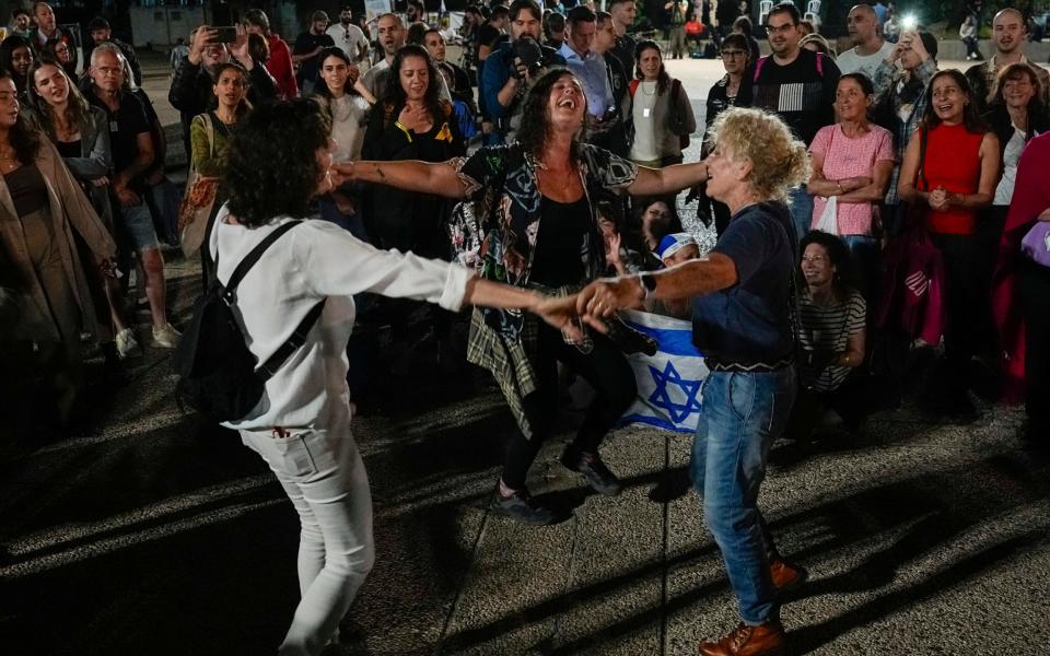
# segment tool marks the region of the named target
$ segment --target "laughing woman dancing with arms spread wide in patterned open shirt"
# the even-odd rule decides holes
[[[645,168],[584,142],[586,102],[575,75],[556,69],[526,95],[516,143],[443,163],[358,162],[337,168],[353,179],[466,199],[452,223],[459,261],[489,280],[569,293],[605,271],[595,215],[599,199],[610,192],[666,195],[707,179],[703,163]],[[562,462],[603,494],[621,490],[598,447],[633,401],[635,388],[631,367],[610,338],[594,333],[582,342],[567,340],[521,313],[476,311],[467,356],[492,372],[520,427],[508,448],[493,512],[527,524],[555,519],[529,496],[525,479],[544,440],[555,432],[559,361],[597,390]]]

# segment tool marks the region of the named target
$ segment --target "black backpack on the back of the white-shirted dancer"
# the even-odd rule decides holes
[[[307,313],[288,341],[258,368],[232,307],[237,300],[237,285],[248,270],[273,242],[300,223],[302,221],[289,221],[279,225],[237,265],[225,285],[217,278],[194,304],[194,317],[172,358],[178,375],[175,399],[180,409],[188,406],[217,422],[243,418],[262,398],[266,382],[305,343],[306,335],[320,316],[324,301]],[[215,258],[217,268],[218,265]]]

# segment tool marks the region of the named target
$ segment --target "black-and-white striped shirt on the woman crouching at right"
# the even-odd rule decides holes
[[[850,292],[844,302],[827,306],[817,305],[804,291],[798,298],[802,323],[798,341],[804,351],[842,353],[849,339],[864,330],[866,313],[864,296],[855,290]],[[800,370],[802,384],[815,391],[831,391],[850,374],[850,367],[847,366],[816,370],[803,364]]]

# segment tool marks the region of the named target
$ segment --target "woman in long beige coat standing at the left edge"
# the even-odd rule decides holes
[[[19,112],[16,95],[10,73],[0,72],[0,195],[10,199],[0,203],[0,242],[25,284],[14,337],[32,353],[33,372],[22,379],[45,372],[50,394],[42,398],[57,406],[57,415],[38,417],[68,425],[83,391],[81,332],[97,326],[83,267],[108,271],[116,244],[59,152]],[[93,261],[81,261],[74,231]]]

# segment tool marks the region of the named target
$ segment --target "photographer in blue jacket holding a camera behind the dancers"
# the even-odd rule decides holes
[[[513,141],[521,124],[522,99],[533,81],[552,66],[565,66],[565,58],[553,48],[539,45],[542,12],[535,0],[514,0],[511,4],[511,40],[485,60],[481,96],[495,129],[486,144]]]

